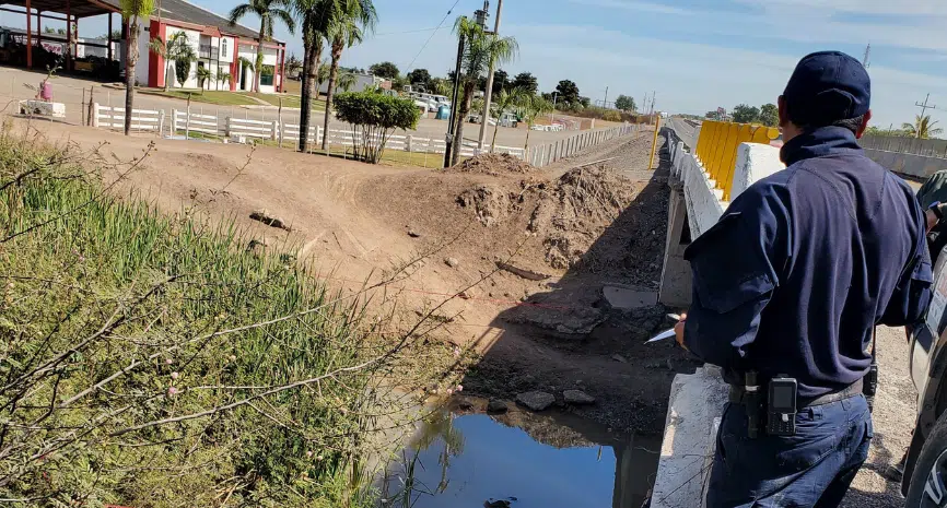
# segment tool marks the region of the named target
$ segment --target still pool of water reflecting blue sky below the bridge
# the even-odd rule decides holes
[[[510,404],[493,415],[484,401],[453,401],[389,468],[382,506],[639,508],[659,447],[659,438],[613,433],[569,414]]]

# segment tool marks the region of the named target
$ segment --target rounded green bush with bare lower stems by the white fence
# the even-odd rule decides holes
[[[414,129],[421,111],[410,98],[393,97],[375,91],[344,92],[332,103],[339,120],[352,127],[355,158],[377,164],[388,137],[395,129]]]

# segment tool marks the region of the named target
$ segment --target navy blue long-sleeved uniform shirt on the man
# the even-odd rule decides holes
[[[784,374],[799,397],[818,397],[868,371],[876,323],[923,318],[933,281],[924,212],[849,129],[819,128],[782,150],[788,167],[687,248],[685,344],[728,382]]]

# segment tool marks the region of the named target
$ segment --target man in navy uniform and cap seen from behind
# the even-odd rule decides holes
[[[740,193],[685,253],[693,299],[678,342],[732,385],[712,508],[838,506],[872,439],[863,377],[874,327],[915,323],[930,300],[924,211],[855,141],[869,97],[849,55],[803,58],[779,98],[786,169]],[[748,373],[762,409],[746,403]],[[792,435],[765,422],[776,377],[797,386]]]

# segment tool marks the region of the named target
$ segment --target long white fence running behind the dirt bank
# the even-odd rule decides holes
[[[95,110],[92,121],[93,127],[107,129],[122,129],[125,127],[124,108],[102,106],[97,103],[93,107]],[[167,132],[165,133],[166,122],[163,110],[133,109],[132,111],[132,129],[153,131],[159,133],[159,135],[180,135],[184,133],[186,137],[189,137],[191,133],[198,133],[238,142],[249,142],[253,139],[279,142],[300,140],[300,126],[296,123],[282,123],[279,120],[250,120],[248,118],[236,117],[221,118],[215,115],[203,115],[178,109],[172,109],[171,122],[168,122]],[[580,151],[596,144],[621,135],[635,133],[640,130],[641,126],[624,125],[611,129],[583,131],[554,143],[530,146],[528,153],[521,147],[501,145],[496,145],[492,152],[510,154],[527,161],[534,166],[542,167],[575,155]],[[309,126],[307,139],[314,144],[321,143],[323,128]],[[329,144],[353,146],[352,131],[330,129]],[[385,147],[393,151],[443,154],[447,146],[443,139],[398,134],[389,137]],[[491,152],[490,145],[484,145],[483,150],[470,144],[464,144],[460,147],[460,155],[465,157],[488,152]]]

